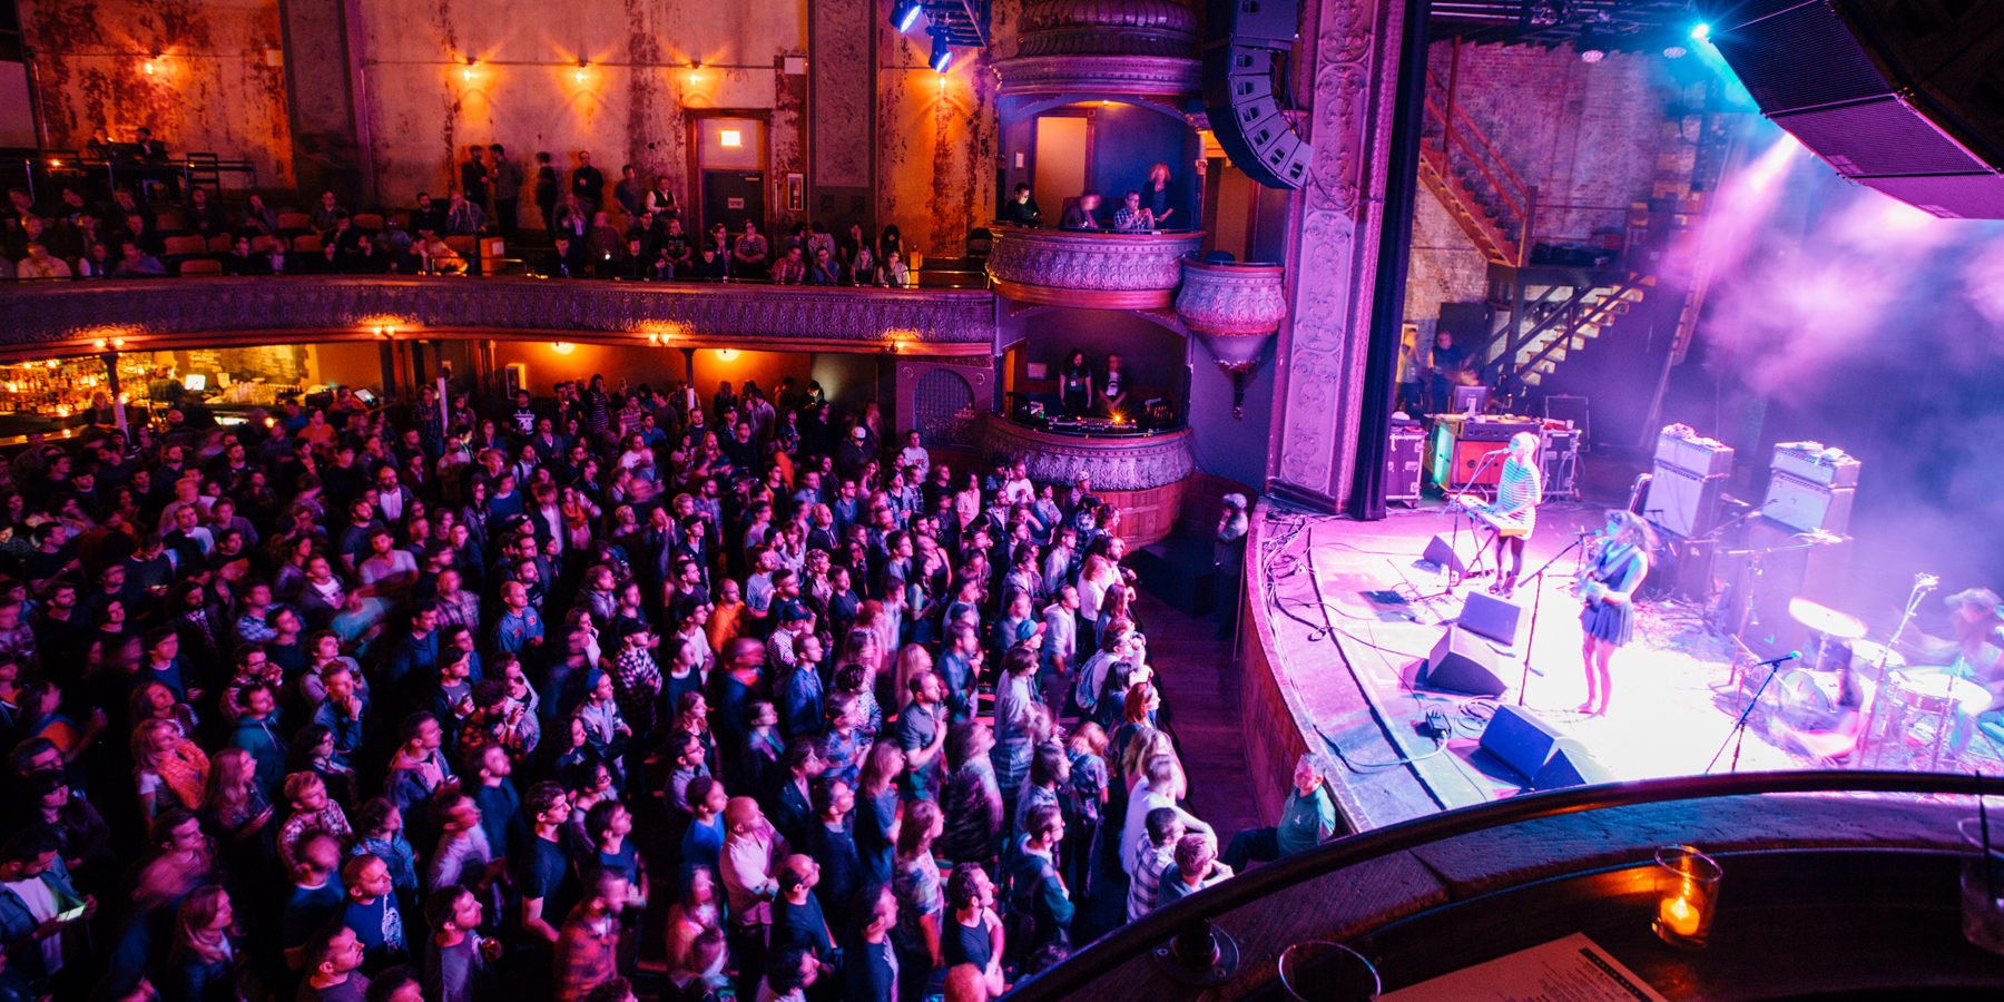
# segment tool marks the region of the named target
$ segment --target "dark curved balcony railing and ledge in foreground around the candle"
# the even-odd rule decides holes
[[[1996,784],[1980,776],[1772,772],[1517,796],[1255,868],[1082,946],[1010,998],[1196,998],[1190,984],[1212,986],[1202,998],[1281,998],[1277,958],[1303,940],[1351,944],[1397,990],[1571,932],[1669,998],[1922,984],[1974,998],[2004,988],[2004,966],[1956,928],[1954,820],[1982,794]],[[1725,868],[1703,954],[1649,934],[1651,852],[1677,842]],[[1234,940],[1236,968],[1190,974],[1178,950],[1216,932]]]

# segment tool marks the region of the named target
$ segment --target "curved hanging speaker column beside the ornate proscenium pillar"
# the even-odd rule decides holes
[[[1232,166],[1269,188],[1309,180],[1309,144],[1287,110],[1287,60],[1301,0],[1210,0],[1204,18],[1204,112]]]

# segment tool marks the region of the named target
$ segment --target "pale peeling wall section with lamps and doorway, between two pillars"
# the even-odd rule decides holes
[[[800,162],[800,82],[782,56],[806,46],[808,0],[359,0],[363,86],[377,188],[405,204],[457,182],[465,146],[501,142],[533,180],[547,150],[569,176],[591,150],[607,198],[619,164],[665,174],[687,200],[683,108],[772,110],[772,172]],[[473,78],[465,58],[479,58]],[[591,66],[577,80],[577,60]],[[691,82],[689,64],[703,68]],[[786,92],[786,96],[782,96]],[[798,170],[792,166],[790,170]],[[523,192],[525,212],[533,212]]]

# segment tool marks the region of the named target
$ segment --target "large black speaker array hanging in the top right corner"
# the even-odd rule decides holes
[[[2004,218],[1988,102],[2000,4],[1754,0],[1711,44],[1776,124],[1852,180],[1950,218]]]

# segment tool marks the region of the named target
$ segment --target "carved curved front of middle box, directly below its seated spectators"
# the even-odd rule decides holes
[[[1202,232],[1076,232],[994,226],[988,277],[1018,303],[1158,309],[1182,281]]]

